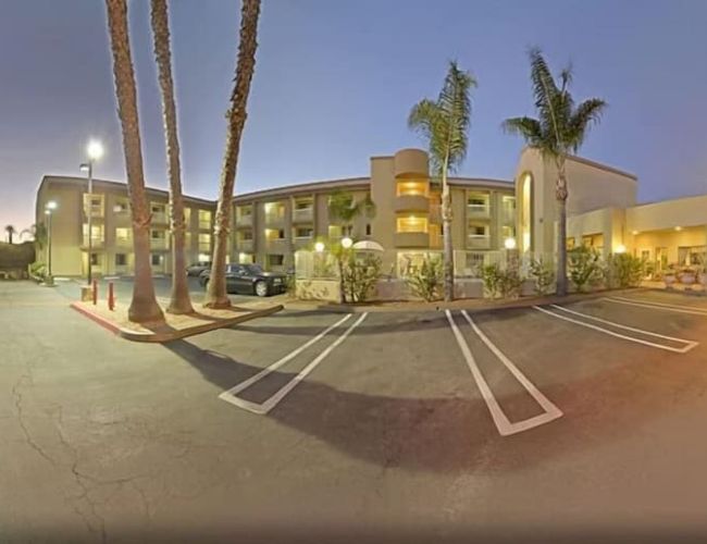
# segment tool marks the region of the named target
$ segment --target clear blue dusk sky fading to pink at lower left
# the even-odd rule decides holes
[[[34,222],[44,174],[124,180],[100,0],[0,0],[0,223]],[[239,1],[171,2],[185,193],[215,198]],[[129,2],[147,184],[166,187],[148,0]],[[368,175],[369,157],[424,144],[410,107],[449,59],[479,81],[461,175],[513,176],[533,114],[528,47],[574,66],[578,100],[609,108],[582,156],[638,175],[641,201],[707,193],[705,0],[263,0],[236,193]]]

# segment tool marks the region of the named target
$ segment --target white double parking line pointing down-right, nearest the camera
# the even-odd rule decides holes
[[[476,382],[476,386],[481,392],[481,396],[483,397],[484,401],[486,403],[486,406],[488,407],[488,411],[491,412],[491,417],[494,420],[494,423],[496,424],[496,429],[498,429],[498,433],[501,436],[508,436],[510,434],[528,431],[530,429],[542,425],[544,423],[548,423],[561,417],[562,416],[561,410],[553,403],[550,403],[548,398],[545,395],[543,395],[537,390],[537,387],[535,387],[530,382],[530,380],[528,380],[528,378],[525,378],[525,375],[518,369],[518,367],[516,367],[510,361],[510,359],[508,359],[508,357],[506,357],[506,355],[504,355],[504,353],[500,349],[498,349],[498,347],[488,339],[488,337],[481,331],[481,329],[476,326],[476,324],[469,317],[469,314],[463,310],[461,313],[464,317],[464,319],[469,322],[472,330],[481,338],[481,341],[506,366],[506,368],[510,370],[510,372],[513,374],[516,380],[520,382],[520,384],[525,388],[525,391],[528,391],[528,393],[530,393],[530,395],[543,408],[543,410],[545,410],[545,413],[541,413],[539,416],[535,416],[533,418],[523,421],[518,421],[514,423],[510,422],[510,420],[501,409],[500,405],[498,404],[498,400],[496,400],[496,397],[491,391],[488,383],[486,382],[483,374],[481,373],[481,370],[479,369],[479,366],[474,360],[474,356],[471,353],[471,348],[469,347],[469,344],[467,344],[467,341],[461,334],[461,331],[459,331],[457,323],[455,323],[455,320],[451,317],[451,312],[449,310],[446,310],[447,320],[449,321],[449,326],[451,327],[455,338],[457,339],[457,344],[459,344],[459,348],[461,349],[461,354],[463,355],[464,360],[467,361],[467,366],[471,371],[471,375],[474,378],[474,381]]]

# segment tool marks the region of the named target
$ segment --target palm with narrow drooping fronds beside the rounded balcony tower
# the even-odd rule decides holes
[[[449,70],[437,100],[412,107],[408,126],[427,140],[433,175],[442,178],[442,223],[444,237],[445,300],[454,298],[454,248],[451,244],[451,198],[447,174],[464,160],[471,125],[470,91],[476,81],[469,72],[449,62]]]

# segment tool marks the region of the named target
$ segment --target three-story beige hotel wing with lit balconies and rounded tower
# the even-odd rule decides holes
[[[513,182],[451,177],[452,240],[458,251],[476,257],[497,250],[516,236]],[[328,217],[335,191],[355,201],[370,198],[371,217],[351,225]],[[171,272],[169,194],[147,190],[151,211],[151,263],[154,273]],[[91,260],[96,274],[129,275],[134,255],[127,187],[95,181],[91,195],[82,177],[47,175],[37,193],[37,222],[49,201],[52,215],[52,271],[84,275]],[[402,149],[394,156],[372,157],[368,177],[332,180],[237,195],[233,199],[231,261],[257,262],[268,270],[294,267],[294,254],[315,240],[335,243],[345,235],[370,239],[384,248],[384,269],[399,274],[401,262],[442,249],[441,186],[431,177],[427,154]],[[91,232],[88,233],[88,214]],[[187,260],[210,260],[215,202],[185,197]],[[349,232],[344,232],[349,231]],[[88,255],[88,236],[91,255]],[[400,259],[405,256],[406,259]]]

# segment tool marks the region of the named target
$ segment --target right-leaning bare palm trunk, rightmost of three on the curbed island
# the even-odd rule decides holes
[[[231,206],[236,182],[240,136],[248,116],[246,106],[250,92],[250,81],[256,69],[256,49],[258,48],[258,16],[260,0],[243,0],[240,9],[240,41],[236,78],[231,95],[231,108],[227,111],[228,132],[226,150],[221,169],[219,203],[213,227],[214,248],[211,264],[211,281],[204,306],[228,308],[231,300],[226,293],[226,255],[228,254],[228,234],[231,232]]]

